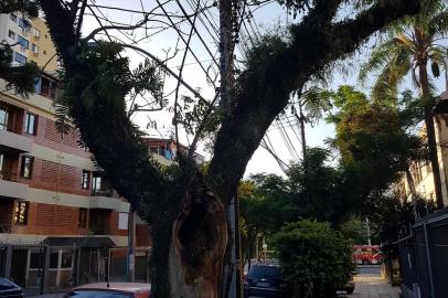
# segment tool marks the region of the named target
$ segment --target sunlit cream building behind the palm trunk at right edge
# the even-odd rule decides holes
[[[448,91],[441,94],[441,103],[448,102]],[[444,204],[448,205],[448,114],[438,114],[434,117],[437,153],[439,159],[441,194]],[[426,138],[426,128],[423,127],[420,135]],[[416,161],[410,164],[410,173],[414,178],[417,193],[427,200],[436,201],[434,187],[433,168],[429,161]],[[410,200],[410,190],[406,175],[403,173],[402,179],[396,185],[396,190],[403,198]]]

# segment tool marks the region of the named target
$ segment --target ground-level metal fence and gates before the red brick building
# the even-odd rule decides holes
[[[28,295],[67,289],[88,283],[126,281],[126,247],[0,245],[0,276]],[[150,281],[150,251],[136,248],[136,280]]]

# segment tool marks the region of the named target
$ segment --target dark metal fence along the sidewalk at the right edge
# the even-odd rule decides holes
[[[448,297],[448,209],[418,221],[397,244],[403,296]]]

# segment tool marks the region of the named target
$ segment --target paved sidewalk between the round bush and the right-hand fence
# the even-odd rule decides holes
[[[399,298],[399,288],[392,287],[376,274],[360,274],[354,277],[356,286],[350,298]]]

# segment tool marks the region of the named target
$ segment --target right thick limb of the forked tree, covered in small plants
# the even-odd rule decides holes
[[[248,67],[237,79],[233,113],[217,132],[209,178],[228,200],[246,164],[289,94],[329,63],[353,52],[362,42],[394,20],[419,9],[419,0],[378,1],[355,20],[332,24],[341,1],[321,1],[326,11],[311,11],[291,30],[292,43],[266,39],[252,50]],[[386,2],[386,3],[384,3]],[[335,6],[338,4],[338,6]],[[323,18],[322,18],[323,15]]]

